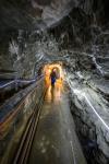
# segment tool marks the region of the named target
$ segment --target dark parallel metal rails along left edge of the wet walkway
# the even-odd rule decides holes
[[[41,106],[44,102],[44,97],[46,95],[47,89],[44,91],[39,104],[34,107],[33,115],[27,122],[27,126],[25,127],[24,134],[22,136],[22,139],[20,141],[20,144],[17,147],[17,151],[13,157],[13,164],[26,164],[29,153],[31,153],[31,148],[34,141],[34,137],[37,130],[40,113],[41,113]],[[36,110],[37,107],[37,110]]]

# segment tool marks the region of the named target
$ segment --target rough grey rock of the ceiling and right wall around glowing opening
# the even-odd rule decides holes
[[[72,112],[96,141],[99,164],[109,162],[108,10],[108,0],[0,1],[0,70],[33,78],[44,63],[63,61]]]

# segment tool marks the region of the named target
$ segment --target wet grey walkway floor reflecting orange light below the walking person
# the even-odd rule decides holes
[[[86,163],[74,131],[68,92],[60,85],[47,91],[28,163]]]

